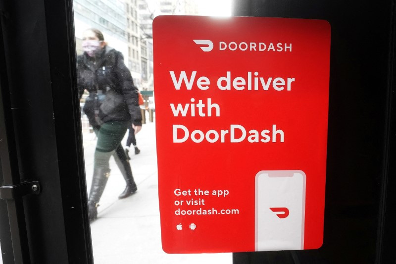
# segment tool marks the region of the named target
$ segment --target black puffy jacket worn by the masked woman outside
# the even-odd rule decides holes
[[[77,69],[80,98],[85,89],[90,93],[83,110],[92,126],[128,120],[142,125],[138,89],[122,53],[108,46],[95,60],[84,53],[77,57]]]

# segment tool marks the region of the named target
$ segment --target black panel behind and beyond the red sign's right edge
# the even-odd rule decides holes
[[[236,253],[234,263],[395,263],[395,0],[234,3],[237,16],[331,25],[323,246]]]

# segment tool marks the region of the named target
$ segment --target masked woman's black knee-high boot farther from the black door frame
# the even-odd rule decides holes
[[[134,194],[138,190],[138,187],[136,186],[136,183],[133,179],[131,165],[129,164],[129,161],[121,145],[117,148],[115,153],[119,158],[119,160],[116,158],[116,163],[120,168],[122,176],[124,176],[125,182],[127,184],[125,190],[120,194],[120,196],[118,196],[118,199],[124,199]]]

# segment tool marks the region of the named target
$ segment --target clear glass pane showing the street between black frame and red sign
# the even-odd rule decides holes
[[[74,0],[95,263],[232,262],[231,254],[167,255],[161,249],[152,56],[155,16],[230,10],[230,0]],[[138,94],[130,93],[135,87],[143,95],[141,106]],[[139,126],[140,114],[143,127],[134,139],[131,123]],[[139,189],[132,196],[131,178]]]

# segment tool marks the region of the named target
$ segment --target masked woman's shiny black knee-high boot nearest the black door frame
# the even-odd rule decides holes
[[[100,197],[103,194],[104,187],[106,186],[110,170],[104,168],[94,168],[94,177],[92,178],[92,185],[90,196],[88,198],[89,217],[90,222],[98,218],[98,206]]]

